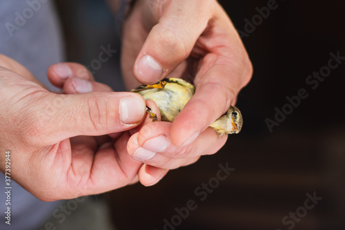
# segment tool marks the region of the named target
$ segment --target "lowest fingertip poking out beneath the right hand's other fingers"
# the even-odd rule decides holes
[[[157,184],[161,178],[164,178],[168,171],[168,169],[161,169],[155,166],[144,164],[139,169],[139,181],[144,186],[152,186]]]

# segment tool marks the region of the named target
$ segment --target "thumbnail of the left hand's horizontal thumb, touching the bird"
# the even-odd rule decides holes
[[[119,109],[122,123],[136,124],[144,117],[146,105],[138,97],[122,97]]]

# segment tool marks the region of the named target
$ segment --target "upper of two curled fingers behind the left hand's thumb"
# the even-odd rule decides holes
[[[47,71],[49,81],[59,88],[63,88],[63,84],[68,78],[76,77],[86,81],[94,82],[90,71],[83,65],[72,62],[54,64]]]

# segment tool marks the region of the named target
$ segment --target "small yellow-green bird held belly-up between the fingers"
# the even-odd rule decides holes
[[[184,79],[170,77],[157,84],[139,86],[139,88],[131,91],[139,93],[144,99],[151,99],[155,102],[161,113],[162,121],[173,122],[177,114],[194,95],[195,86],[184,81]],[[152,113],[149,107],[146,110],[152,122],[157,121],[157,115]],[[210,124],[210,127],[214,128],[219,135],[226,135],[239,133],[242,124],[241,112],[236,106],[230,106],[224,115]]]

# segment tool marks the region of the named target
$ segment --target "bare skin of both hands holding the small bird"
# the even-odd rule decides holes
[[[128,89],[168,75],[195,76],[189,80],[197,91],[173,123],[150,122],[140,95],[112,93],[78,64],[59,64],[65,70],[68,66],[68,74],[55,66],[48,70],[50,81],[66,93],[58,95],[16,61],[0,55],[0,152],[12,151],[11,178],[37,198],[75,198],[138,180],[152,185],[168,169],[192,164],[226,142],[226,136],[207,127],[235,104],[252,67],[217,1],[138,0],[123,36],[121,64]],[[145,55],[157,62],[153,72],[140,62]],[[119,119],[124,97],[142,103],[130,113],[128,124]],[[154,103],[146,104],[158,114]],[[139,149],[155,155],[138,160]],[[1,154],[2,172],[4,163]]]

